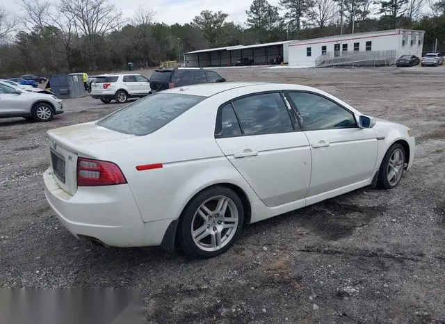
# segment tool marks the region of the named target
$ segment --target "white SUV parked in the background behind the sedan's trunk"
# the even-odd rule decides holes
[[[100,99],[104,104],[113,99],[124,104],[129,98],[145,97],[150,93],[149,79],[135,73],[102,74],[91,85],[91,97]]]

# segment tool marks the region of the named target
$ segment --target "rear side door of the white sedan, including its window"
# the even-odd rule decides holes
[[[218,111],[216,129],[216,142],[227,159],[266,206],[297,200],[305,206],[309,143],[280,92],[243,97],[232,104]]]

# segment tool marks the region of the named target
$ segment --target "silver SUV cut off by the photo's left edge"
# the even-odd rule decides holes
[[[0,81],[0,118],[23,117],[47,122],[60,113],[63,113],[63,104],[58,97],[29,92]]]

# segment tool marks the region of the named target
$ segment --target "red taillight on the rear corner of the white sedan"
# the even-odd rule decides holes
[[[118,165],[94,159],[77,159],[77,186],[112,186],[114,184],[127,184],[127,179]]]

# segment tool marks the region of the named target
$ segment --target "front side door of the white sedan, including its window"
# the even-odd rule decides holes
[[[360,129],[353,113],[321,95],[287,93],[311,146],[312,176],[307,197],[373,176],[378,150],[373,129]]]

